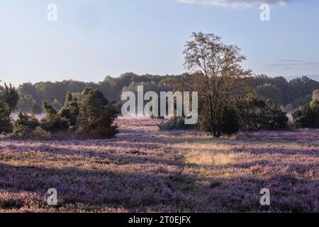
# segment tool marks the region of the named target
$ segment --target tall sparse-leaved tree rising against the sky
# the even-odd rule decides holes
[[[214,34],[193,33],[185,47],[186,68],[196,73],[199,126],[218,137],[223,133],[223,115],[233,109],[233,101],[244,90],[242,79],[250,75],[241,67],[245,57],[237,46],[223,44]]]

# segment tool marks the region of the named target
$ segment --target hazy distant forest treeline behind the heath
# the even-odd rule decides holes
[[[77,99],[81,99],[81,92],[89,87],[99,89],[110,101],[120,101],[123,90],[134,90],[138,84],[143,84],[145,91],[167,92],[174,89],[174,82],[187,80],[192,82],[191,74],[182,75],[137,75],[125,73],[121,77],[106,77],[102,82],[86,83],[74,80],[64,80],[62,82],[39,82],[35,84],[24,83],[18,86],[18,106],[16,111],[40,114],[43,112],[42,103],[47,102],[62,109],[67,92],[72,93]],[[176,83],[175,83],[176,84]],[[259,98],[270,99],[278,104],[281,109],[292,112],[299,106],[310,102],[313,91],[319,89],[319,82],[309,77],[301,77],[287,81],[284,77],[267,77],[257,75],[250,79],[251,86],[256,90]],[[189,84],[191,87],[193,84]],[[0,86],[0,93],[4,87]]]

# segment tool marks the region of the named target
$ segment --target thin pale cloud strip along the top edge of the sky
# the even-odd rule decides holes
[[[186,4],[207,4],[212,6],[225,6],[231,8],[255,8],[262,4],[281,6],[288,4],[291,0],[178,0]]]

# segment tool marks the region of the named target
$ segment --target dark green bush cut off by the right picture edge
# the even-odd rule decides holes
[[[313,100],[309,104],[299,107],[292,114],[293,124],[300,128],[319,128],[319,101]]]

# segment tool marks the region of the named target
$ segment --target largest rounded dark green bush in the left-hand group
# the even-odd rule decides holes
[[[118,111],[97,89],[85,89],[79,105],[77,133],[85,138],[109,138],[118,133],[113,125]]]

